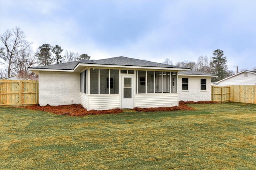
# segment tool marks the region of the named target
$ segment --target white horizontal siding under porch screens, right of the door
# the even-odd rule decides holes
[[[178,93],[135,94],[135,107],[172,107],[178,105]]]

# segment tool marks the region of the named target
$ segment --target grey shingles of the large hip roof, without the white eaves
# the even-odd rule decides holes
[[[103,64],[103,65],[120,65],[120,66],[146,66],[146,67],[164,67],[164,68],[184,68],[179,66],[173,66],[162,63],[155,63],[151,61],[132,59],[128,57],[114,57],[109,59],[101,60],[83,60],[83,61],[74,61],[69,63],[61,64],[52,64],[48,66],[38,66],[38,67],[29,67],[37,69],[58,69],[58,70],[74,70],[74,68],[79,64]]]

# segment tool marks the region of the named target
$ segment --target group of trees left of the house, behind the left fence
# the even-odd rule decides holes
[[[7,29],[0,36],[0,79],[12,75],[24,78],[36,76],[28,70],[30,66],[46,66],[61,62],[90,60],[87,54],[78,54],[63,49],[59,45],[43,44],[36,53],[32,49],[32,42],[28,42],[24,31],[20,27]]]

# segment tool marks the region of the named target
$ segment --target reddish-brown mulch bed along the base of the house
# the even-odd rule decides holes
[[[152,108],[139,108],[135,107],[135,111],[172,111],[172,110],[193,110],[192,107],[187,106],[186,104],[204,104],[204,103],[217,103],[217,102],[179,102],[179,106],[174,107],[152,107]],[[62,106],[25,106],[26,109],[33,110],[42,110],[51,113],[55,113],[58,115],[69,115],[69,116],[85,116],[85,115],[101,115],[101,114],[115,114],[121,113],[122,109],[109,109],[109,110],[90,110],[87,111],[80,104],[72,104],[72,105],[62,105]]]

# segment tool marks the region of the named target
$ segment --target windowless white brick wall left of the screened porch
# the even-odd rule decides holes
[[[47,104],[80,104],[80,73],[39,72],[39,105]]]

